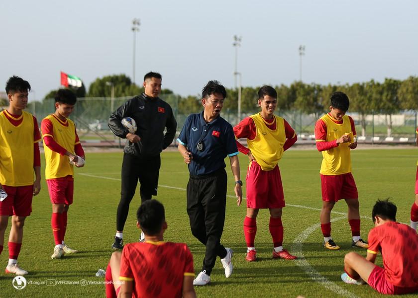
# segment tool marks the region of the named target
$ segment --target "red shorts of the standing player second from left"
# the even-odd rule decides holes
[[[74,179],[73,176],[46,180],[49,198],[53,204],[73,204]]]

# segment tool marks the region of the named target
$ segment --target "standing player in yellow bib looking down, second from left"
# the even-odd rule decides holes
[[[67,213],[73,203],[74,192],[74,169],[69,161],[82,167],[85,159],[76,126],[68,119],[76,101],[76,95],[71,90],[58,90],[55,96],[55,112],[46,116],[41,123],[46,160],[45,179],[52,203],[51,226],[55,239],[54,253],[51,256],[53,259],[61,258],[64,253],[77,252],[64,243]]]

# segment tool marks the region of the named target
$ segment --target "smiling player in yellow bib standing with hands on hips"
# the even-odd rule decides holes
[[[277,163],[298,137],[285,119],[274,115],[277,92],[273,87],[262,86],[258,98],[261,112],[245,118],[234,127],[235,138],[246,138],[248,144],[248,148],[245,148],[237,141],[238,150],[250,159],[246,179],[247,215],[244,219],[247,243],[245,259],[249,262],[256,260],[256,218],[260,209],[268,208],[269,230],[274,245],[273,258],[294,260],[296,256],[283,249],[282,208],[285,207],[285,199]]]

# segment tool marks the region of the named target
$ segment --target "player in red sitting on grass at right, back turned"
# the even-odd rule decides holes
[[[418,292],[418,235],[410,226],[396,222],[396,209],[388,200],[376,202],[367,256],[355,252],[345,255],[345,273],[341,275],[345,283],[366,281],[381,294]],[[384,268],[374,264],[379,251]]]

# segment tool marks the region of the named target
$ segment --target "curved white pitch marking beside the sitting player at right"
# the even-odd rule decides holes
[[[340,220],[344,220],[346,217],[337,217],[331,220],[331,222],[336,222]],[[337,284],[329,281],[325,277],[323,277],[318,271],[316,271],[311,264],[304,258],[303,254],[303,243],[308,239],[309,235],[311,235],[316,229],[318,229],[321,226],[320,223],[311,225],[306,230],[304,230],[302,233],[300,233],[295,240],[293,240],[292,245],[292,253],[298,256],[298,259],[295,260],[296,264],[301,267],[303,271],[305,271],[311,279],[313,279],[315,282],[319,283],[324,288],[338,294],[344,297],[348,298],[357,298],[356,295],[353,293],[341,288]]]

